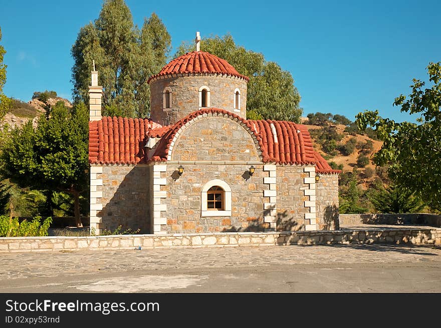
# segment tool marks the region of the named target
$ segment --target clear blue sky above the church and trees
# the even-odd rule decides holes
[[[29,101],[55,90],[71,99],[71,47],[80,28],[99,16],[101,0],[0,0],[7,54],[4,93]],[[141,1],[126,0],[134,23],[155,12],[182,41],[230,33],[238,45],[261,52],[294,77],[304,116],[331,112],[354,119],[365,109],[414,121],[393,107],[413,78],[441,61],[438,1]],[[5,15],[6,13],[6,15]]]

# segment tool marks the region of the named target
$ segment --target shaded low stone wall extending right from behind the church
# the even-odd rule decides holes
[[[340,214],[340,225],[357,224],[408,224],[441,227],[441,215],[427,213],[409,214]]]

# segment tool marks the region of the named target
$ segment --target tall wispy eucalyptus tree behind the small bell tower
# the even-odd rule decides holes
[[[95,61],[103,86],[103,114],[147,116],[147,79],[166,64],[170,43],[165,26],[155,14],[139,30],[123,0],[106,0],[99,18],[80,29],[72,47],[74,99],[88,102]]]

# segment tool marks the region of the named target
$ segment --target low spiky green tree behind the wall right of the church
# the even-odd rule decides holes
[[[369,199],[378,213],[417,213],[424,203],[407,188],[380,185],[370,192]]]

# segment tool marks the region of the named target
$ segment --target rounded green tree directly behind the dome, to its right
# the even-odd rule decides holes
[[[182,44],[176,57],[195,50],[195,45]],[[248,76],[247,117],[300,122],[300,94],[290,72],[264,55],[237,46],[231,35],[203,38],[200,50],[225,59],[242,75]]]

